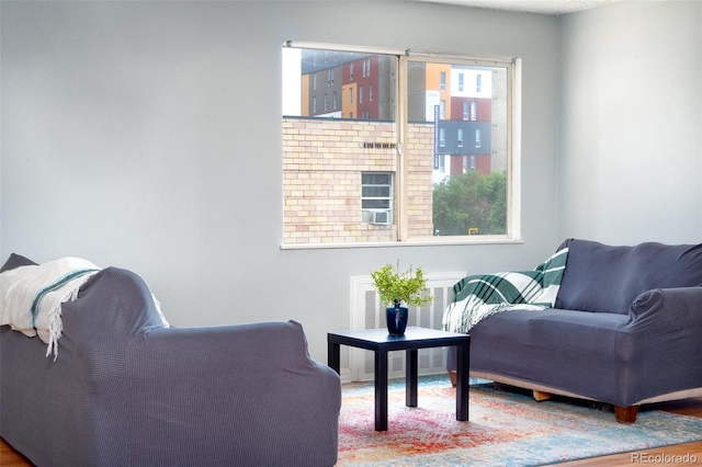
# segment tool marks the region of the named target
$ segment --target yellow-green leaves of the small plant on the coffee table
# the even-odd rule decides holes
[[[412,270],[409,266],[409,270],[400,272],[398,261],[397,266],[385,264],[373,271],[371,277],[381,301],[386,306],[399,306],[405,303],[420,307],[430,304],[434,298],[428,294],[427,278],[421,267]]]

